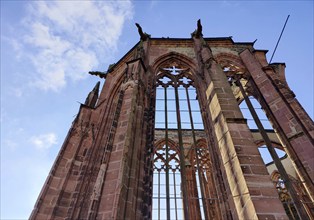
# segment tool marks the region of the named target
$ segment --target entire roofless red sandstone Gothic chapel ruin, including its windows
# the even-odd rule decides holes
[[[314,123],[285,64],[203,37],[200,20],[190,38],[136,25],[140,41],[90,72],[103,88],[80,106],[30,219],[314,219]]]

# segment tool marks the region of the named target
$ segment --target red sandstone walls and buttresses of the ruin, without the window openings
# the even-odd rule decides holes
[[[313,203],[314,123],[289,89],[284,64],[268,64],[251,42],[205,38],[200,26],[186,39],[139,33],[101,75],[100,94],[98,84],[81,105],[30,219],[152,218],[155,82],[172,66],[189,69],[197,89],[219,219],[288,219],[230,78],[250,85],[247,94],[266,112]]]

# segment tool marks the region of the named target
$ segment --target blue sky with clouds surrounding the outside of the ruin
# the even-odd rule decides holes
[[[86,95],[139,40],[233,36],[268,49],[313,118],[313,1],[1,1],[1,219],[26,219]]]

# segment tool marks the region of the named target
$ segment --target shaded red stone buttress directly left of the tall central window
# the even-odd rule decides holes
[[[147,103],[141,81],[145,70],[140,59],[127,65],[121,113],[98,208],[97,218],[104,220],[141,219],[136,215],[141,208],[137,197],[142,184],[141,161],[146,141],[143,123]]]

